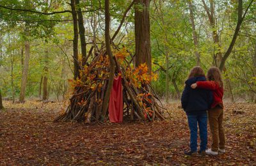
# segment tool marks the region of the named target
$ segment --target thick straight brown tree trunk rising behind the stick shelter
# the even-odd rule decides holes
[[[150,50],[150,0],[136,0],[134,13],[136,67],[147,63],[148,72],[152,71]],[[142,6],[142,9],[141,9]]]

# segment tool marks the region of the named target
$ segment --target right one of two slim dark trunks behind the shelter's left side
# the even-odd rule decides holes
[[[79,0],[76,0],[77,7],[77,16],[78,16],[78,27],[79,27],[79,35],[80,35],[80,41],[81,41],[81,52],[83,57],[83,66],[86,64],[86,42],[85,42],[85,36],[84,36],[84,20],[83,20],[83,13],[81,11],[81,7],[79,7]]]

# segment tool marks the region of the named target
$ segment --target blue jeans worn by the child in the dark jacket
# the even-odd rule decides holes
[[[197,151],[197,123],[200,133],[200,151],[205,151],[207,146],[207,113],[199,115],[187,115],[190,130],[190,149]]]

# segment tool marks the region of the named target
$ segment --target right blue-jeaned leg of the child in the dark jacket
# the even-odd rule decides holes
[[[207,146],[207,113],[198,117],[198,126],[200,132],[200,151],[205,151]]]

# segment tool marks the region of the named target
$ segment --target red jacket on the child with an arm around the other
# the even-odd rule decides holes
[[[197,87],[203,88],[203,89],[209,89],[212,90],[213,93],[213,102],[211,105],[211,108],[216,107],[216,105],[220,105],[220,107],[223,108],[223,87],[220,87],[220,84],[215,81],[198,81],[196,82]]]

